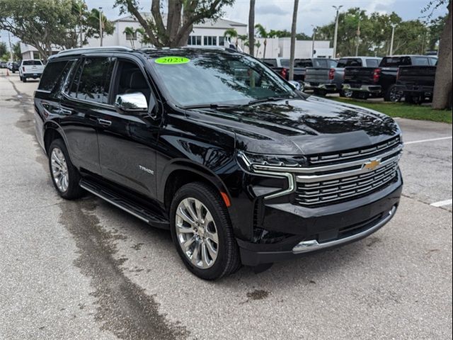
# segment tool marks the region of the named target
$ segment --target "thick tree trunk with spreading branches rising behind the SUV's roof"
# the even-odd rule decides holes
[[[152,0],[151,18],[140,13],[137,0],[116,0],[121,13],[126,11],[137,18],[147,33],[147,40],[155,47],[180,47],[187,45],[195,23],[207,19],[216,20],[222,15],[224,6],[234,0],[172,0],[168,3],[167,21],[164,23],[161,0]]]

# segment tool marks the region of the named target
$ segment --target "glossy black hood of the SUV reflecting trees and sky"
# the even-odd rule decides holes
[[[382,113],[323,98],[190,111],[236,135],[236,148],[259,154],[319,154],[368,147],[400,133]]]

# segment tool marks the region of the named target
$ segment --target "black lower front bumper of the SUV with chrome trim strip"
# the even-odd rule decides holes
[[[315,209],[291,203],[266,206],[265,229],[287,231],[292,236],[273,244],[237,239],[241,261],[246,266],[285,261],[368,237],[394,217],[402,187],[398,171],[391,186],[358,200]]]

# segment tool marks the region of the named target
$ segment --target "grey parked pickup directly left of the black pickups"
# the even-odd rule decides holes
[[[343,96],[350,96],[350,93],[344,94],[342,91],[345,67],[378,67],[381,60],[378,57],[344,57],[336,63],[307,67],[304,87],[306,90],[314,90],[315,94],[340,92]]]

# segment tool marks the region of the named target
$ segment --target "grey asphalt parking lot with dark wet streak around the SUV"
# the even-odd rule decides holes
[[[209,283],[168,232],[57,196],[37,86],[0,70],[0,339],[452,339],[452,125],[398,120],[406,185],[376,234]]]

